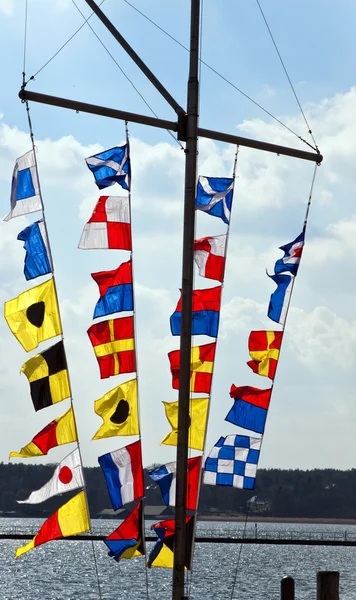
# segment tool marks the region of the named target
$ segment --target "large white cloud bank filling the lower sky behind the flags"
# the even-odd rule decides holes
[[[307,243],[287,322],[276,396],[264,445],[266,466],[296,466],[297,460],[301,467],[328,466],[325,457],[330,457],[329,434],[335,420],[336,387],[339,429],[335,439],[340,448],[345,449],[347,444],[342,427],[349,426],[356,337],[353,304],[349,308],[351,301],[347,298],[347,295],[353,298],[355,280],[355,101],[356,89],[351,89],[308,109],[326,158],[318,171]],[[297,118],[284,120],[296,129],[300,126]],[[291,145],[289,134],[262,120],[246,121],[240,125],[240,130],[247,135]],[[78,424],[84,440],[83,453],[85,460],[94,464],[98,446],[94,448],[89,439],[98,426],[98,419],[93,414],[92,403],[116,381],[99,380],[95,357],[86,336],[98,299],[90,273],[115,268],[127,260],[128,255],[76,249],[83,221],[90,216],[99,194],[84,158],[101,150],[101,146],[81,144],[72,135],[57,140],[37,140],[36,145]],[[346,147],[345,151],[341,146]],[[4,215],[9,208],[8,190],[14,160],[28,147],[26,133],[1,124],[0,191]],[[142,428],[145,461],[152,463],[173,458],[173,450],[160,449],[159,441],[167,432],[161,401],[176,398],[171,389],[166,354],[178,347],[178,338],[170,336],[169,316],[181,286],[184,153],[167,143],[149,145],[135,138],[131,138],[131,147]],[[199,172],[230,175],[234,150],[211,140],[201,140]],[[248,333],[253,329],[273,327],[266,312],[274,288],[265,275],[265,268],[273,269],[274,261],[281,255],[278,246],[300,233],[312,170],[310,164],[241,148],[208,444],[213,444],[218,435],[230,432],[226,429],[224,416],[230,406],[228,391],[232,380],[236,385],[268,385],[246,367]],[[111,192],[122,193],[119,188],[110,188],[108,193]],[[200,213],[197,219],[199,236],[224,231],[223,224],[217,219]],[[3,300],[16,296],[27,285],[22,277],[22,244],[16,241],[16,235],[30,221],[30,218],[14,219],[0,224],[0,297]],[[340,283],[340,278],[345,277],[345,265],[350,282],[348,290]],[[196,276],[196,284],[204,287],[205,282]],[[39,430],[40,425],[45,424],[48,413],[33,414],[27,382],[23,378],[16,379],[25,360],[23,351],[4,322],[0,332],[1,356],[6,356],[0,365],[2,396],[5,399],[11,397],[14,410],[21,410],[23,414],[23,422],[11,436],[14,438],[11,446],[16,448],[29,441],[28,423],[31,421],[31,433],[35,433],[37,425]],[[328,385],[323,384],[325,380]],[[307,428],[305,419],[298,417],[303,407],[308,409]],[[4,419],[10,418],[11,422],[8,411],[3,408],[2,412]],[[293,432],[290,431],[291,422]],[[296,457],[295,445],[301,437],[306,438],[306,447],[317,439],[312,464],[306,451],[304,454],[299,451]],[[280,455],[281,440],[283,456]],[[114,448],[117,440],[112,443]],[[1,456],[6,459],[12,449],[6,432],[0,444]],[[339,455],[339,464],[345,467],[350,466],[343,458],[347,455],[347,452]]]

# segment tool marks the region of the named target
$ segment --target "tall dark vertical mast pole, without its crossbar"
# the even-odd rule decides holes
[[[199,105],[199,18],[200,0],[192,0],[190,16],[190,60],[187,92],[185,191],[182,256],[182,316],[180,331],[180,375],[178,395],[178,439],[175,502],[175,548],[173,600],[184,598],[186,564],[186,492],[189,443],[190,354],[192,334],[193,256],[195,233],[195,188],[197,180],[198,105]]]

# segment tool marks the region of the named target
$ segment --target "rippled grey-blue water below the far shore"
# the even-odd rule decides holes
[[[39,519],[0,519],[0,531],[35,534]],[[118,521],[94,520],[93,533],[107,535]],[[151,534],[146,521],[147,534]],[[199,522],[198,536],[240,537],[244,523]],[[249,522],[246,537],[356,540],[356,525]],[[169,600],[172,572],[146,569],[138,557],[119,564],[103,542],[53,541],[19,559],[24,542],[0,540],[1,600]],[[152,543],[148,543],[148,550]],[[316,598],[317,571],[340,572],[340,599],[356,600],[356,547],[258,544],[196,544],[189,573],[191,600],[280,600],[280,581],[295,579],[296,599]],[[187,593],[187,595],[188,595]]]

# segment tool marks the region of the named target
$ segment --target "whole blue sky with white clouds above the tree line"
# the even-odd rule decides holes
[[[188,45],[188,0],[132,3]],[[275,0],[270,4],[262,3],[325,160],[316,176],[260,466],[348,469],[354,466],[356,424],[356,88],[352,58],[356,9],[350,0]],[[70,0],[56,0],[50,6],[45,0],[29,0],[28,5],[25,71],[27,79],[36,75],[29,89],[151,114],[88,26],[42,69],[83,18]],[[30,149],[25,107],[17,97],[23,71],[24,6],[24,1],[0,0],[0,212],[4,216],[9,210],[15,159]],[[78,6],[89,14],[84,0],[78,0]],[[124,0],[106,0],[103,9],[184,105],[187,52]],[[90,23],[151,108],[161,118],[173,119],[170,107],[110,34],[95,17]],[[288,127],[310,139],[253,0],[205,0],[202,57]],[[31,106],[31,116],[83,459],[94,465],[99,454],[131,440],[90,442],[101,422],[93,412],[94,400],[128,379],[99,379],[86,335],[98,298],[90,273],[113,269],[128,254],[77,249],[99,195],[84,158],[122,144],[124,125],[40,105]],[[200,124],[307,149],[204,66]],[[170,335],[169,316],[181,280],[184,153],[165,131],[130,125],[130,136],[140,407],[144,463],[148,465],[174,459],[174,449],[160,446],[160,440],[169,431],[162,401],[176,399],[167,352],[178,348],[178,339]],[[231,176],[234,150],[200,140],[199,174]],[[281,256],[278,247],[302,229],[313,169],[313,164],[293,158],[240,150],[207,450],[220,435],[238,431],[224,421],[232,404],[231,384],[269,385],[269,380],[246,366],[247,339],[251,330],[274,328],[266,316],[274,284],[265,270],[271,271]],[[110,188],[110,193],[120,195],[120,188]],[[16,236],[33,220],[29,216],[0,223],[1,302],[31,287],[24,281],[23,249]],[[222,221],[197,215],[197,237],[224,231]],[[213,282],[196,273],[196,287],[210,285]],[[0,460],[7,461],[11,450],[28,443],[66,410],[68,401],[35,414],[27,379],[19,375],[27,356],[4,320],[0,336]],[[53,450],[47,462],[59,460],[66,450]]]

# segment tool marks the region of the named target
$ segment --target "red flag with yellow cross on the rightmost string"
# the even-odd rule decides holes
[[[248,366],[254,373],[274,379],[283,331],[251,331],[248,349],[252,360]]]

